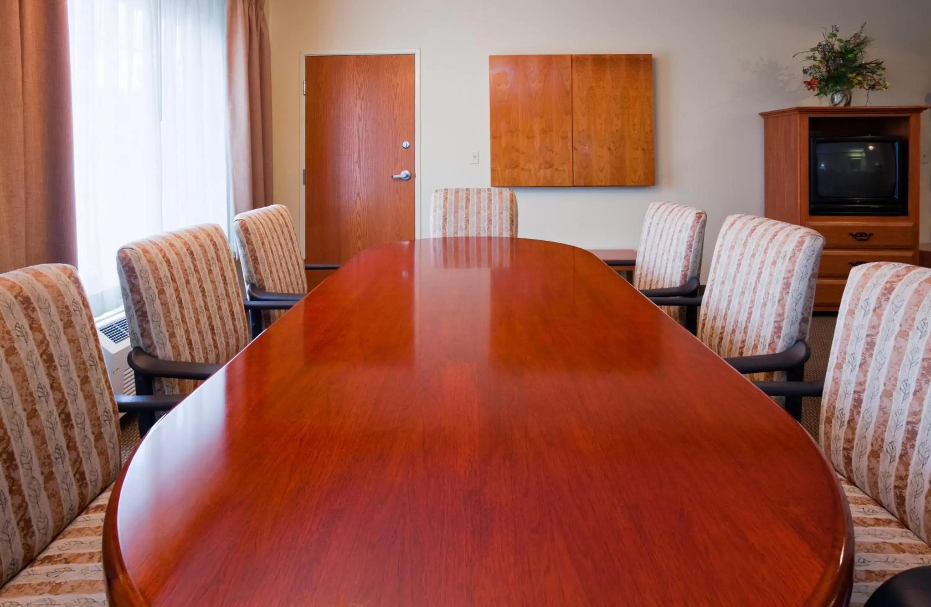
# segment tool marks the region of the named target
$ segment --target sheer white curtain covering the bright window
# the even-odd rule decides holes
[[[69,0],[78,272],[120,305],[120,245],[229,221],[225,0]]]

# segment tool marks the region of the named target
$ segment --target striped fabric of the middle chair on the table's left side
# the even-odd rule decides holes
[[[225,363],[249,344],[236,265],[219,225],[143,238],[116,253],[129,342],[163,360]],[[155,380],[188,394],[192,380]]]

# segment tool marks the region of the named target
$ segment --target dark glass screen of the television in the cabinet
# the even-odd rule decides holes
[[[818,142],[815,155],[819,197],[896,196],[896,142]]]

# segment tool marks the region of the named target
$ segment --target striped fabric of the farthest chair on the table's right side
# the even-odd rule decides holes
[[[652,203],[643,220],[634,287],[680,287],[698,277],[707,220],[708,214],[701,209],[671,202]],[[685,322],[681,306],[663,306],[663,310],[680,324]]]

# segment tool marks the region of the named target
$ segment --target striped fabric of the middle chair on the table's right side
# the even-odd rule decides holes
[[[776,354],[808,339],[824,236],[750,215],[724,220],[714,247],[698,338],[722,357]],[[780,381],[785,373],[756,373]]]

